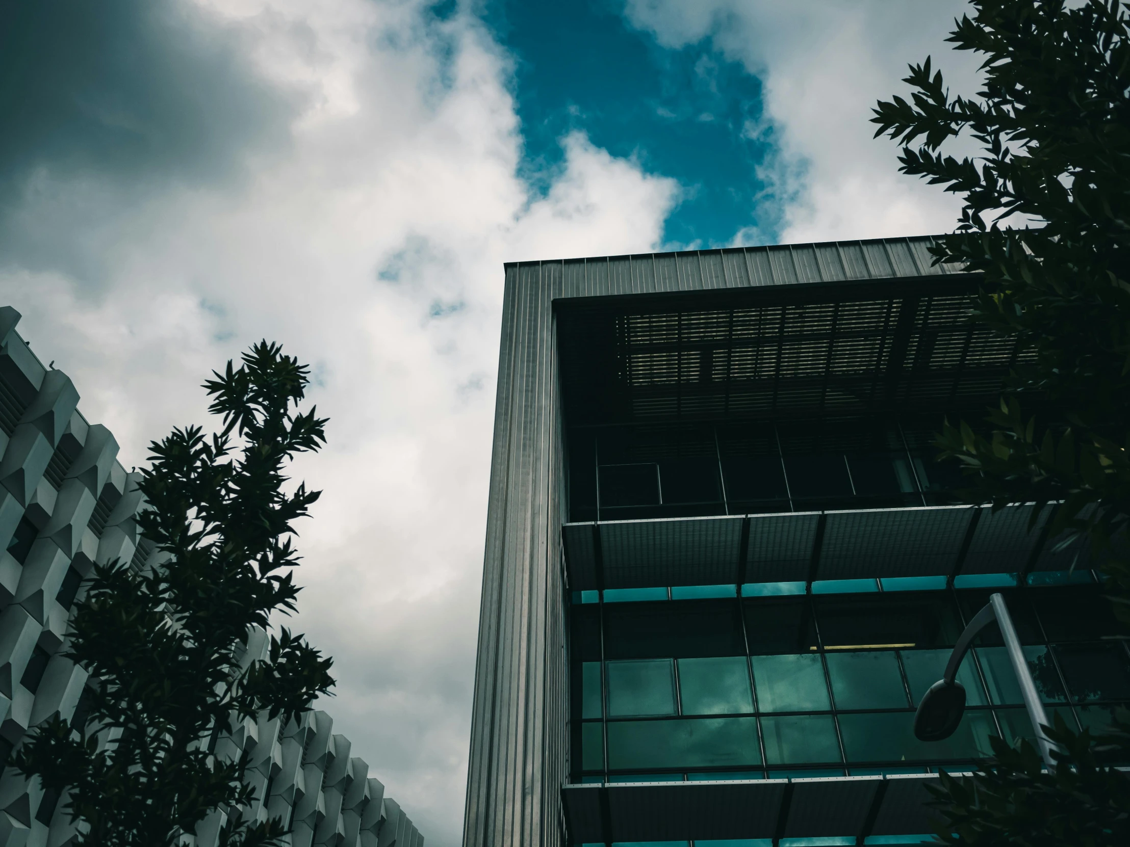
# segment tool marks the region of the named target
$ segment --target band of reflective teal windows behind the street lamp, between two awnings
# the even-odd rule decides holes
[[[1096,584],[1006,591],[1049,713],[1075,728],[1130,701],[1130,655],[1118,639],[1127,631],[1098,593]],[[962,665],[968,708],[954,736],[924,743],[912,732],[919,699],[988,595],[576,597],[573,778],[925,774],[990,754],[990,735],[1032,739],[996,628]]]

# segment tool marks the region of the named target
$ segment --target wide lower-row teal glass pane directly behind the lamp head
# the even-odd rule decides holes
[[[902,762],[988,756],[992,751],[989,736],[997,733],[997,727],[989,711],[966,711],[948,739],[919,741],[914,737],[913,711],[885,711],[841,715],[840,733],[850,762]]]

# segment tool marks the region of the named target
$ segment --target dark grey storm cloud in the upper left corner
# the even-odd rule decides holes
[[[0,248],[70,272],[82,226],[160,185],[238,177],[285,146],[297,95],[263,80],[251,33],[182,0],[0,0]]]

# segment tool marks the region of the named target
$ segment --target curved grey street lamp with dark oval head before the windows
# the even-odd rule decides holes
[[[1005,647],[1008,649],[1009,661],[1016,672],[1016,679],[1020,683],[1020,693],[1024,695],[1024,706],[1028,710],[1028,717],[1036,731],[1036,745],[1040,748],[1040,756],[1049,770],[1055,767],[1052,758],[1051,740],[1044,734],[1043,727],[1049,723],[1044,706],[1040,701],[1036,692],[1036,683],[1032,679],[1032,671],[1024,658],[1024,650],[1020,648],[1020,639],[1016,637],[1016,628],[1012,626],[1012,618],[1005,605],[1005,597],[993,594],[989,597],[989,604],[982,609],[970,626],[957,639],[954,652],[946,664],[946,675],[930,686],[922,697],[918,711],[914,714],[914,735],[921,741],[941,741],[948,739],[962,723],[962,715],[965,711],[965,688],[957,681],[957,669],[962,665],[962,660],[970,652],[973,639],[986,626],[997,621],[1000,634],[1005,638]]]

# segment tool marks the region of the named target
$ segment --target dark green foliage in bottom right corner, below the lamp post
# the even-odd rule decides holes
[[[1059,745],[1057,768],[1043,770],[1027,741],[1018,749],[990,739],[993,758],[982,771],[964,777],[942,774],[930,786],[945,818],[938,837],[946,844],[1023,847],[1105,847],[1130,844],[1130,774],[1105,761],[1130,749],[1130,715],[1093,737],[1075,733],[1054,716],[1048,735]]]

